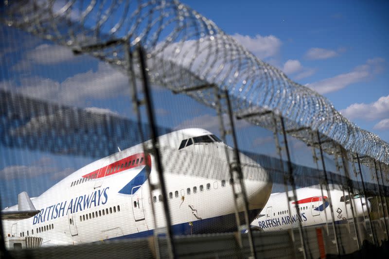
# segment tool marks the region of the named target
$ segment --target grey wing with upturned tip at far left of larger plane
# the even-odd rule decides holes
[[[27,192],[18,194],[18,210],[1,210],[2,220],[24,220],[34,217],[40,210],[35,209]]]

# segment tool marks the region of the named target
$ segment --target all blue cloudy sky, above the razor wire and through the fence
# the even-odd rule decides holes
[[[358,126],[389,141],[389,3],[183,2],[212,19],[260,59],[318,90]],[[5,26],[0,26],[0,47],[1,88],[52,103],[135,118],[127,78],[106,64],[74,56],[66,48]],[[203,127],[218,135],[212,109],[160,87],[154,89],[153,96],[159,125]],[[244,122],[238,122],[237,128],[240,148],[275,155],[271,132]],[[292,159],[315,166],[310,149],[291,141]],[[39,195],[92,161],[0,148],[5,154],[0,160],[0,190],[9,190],[2,196],[7,205],[16,200],[19,190]]]

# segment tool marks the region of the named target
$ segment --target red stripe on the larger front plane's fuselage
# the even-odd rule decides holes
[[[82,177],[91,178],[91,179],[101,178],[101,177],[105,177],[115,173],[120,173],[125,170],[135,168],[138,166],[144,166],[144,165],[148,165],[151,167],[150,155],[147,155],[147,157],[145,157],[144,153],[138,153],[135,155],[127,156],[105,167],[99,168],[93,171],[92,173],[87,173]]]

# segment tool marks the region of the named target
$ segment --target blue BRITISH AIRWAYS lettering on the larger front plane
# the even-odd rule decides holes
[[[108,194],[106,193],[108,189],[109,187],[103,190],[95,190],[88,195],[81,195],[71,199],[69,203],[68,201],[64,201],[46,208],[42,208],[40,209],[40,212],[34,216],[33,225],[45,222],[47,220],[63,217],[69,213],[83,211],[84,209],[90,208],[92,205],[94,207],[99,206],[100,204],[104,205],[108,200]]]

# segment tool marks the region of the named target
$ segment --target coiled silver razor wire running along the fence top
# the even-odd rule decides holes
[[[272,116],[283,116],[287,132],[307,144],[313,144],[310,136],[318,130],[349,152],[389,164],[388,143],[357,127],[325,97],[293,82],[176,0],[5,1],[4,14],[2,21],[8,26],[119,68],[127,65],[124,43],[130,48],[141,44],[153,84],[213,108],[210,87],[227,89],[238,118],[274,130],[279,125]],[[324,150],[333,154],[334,146]]]

